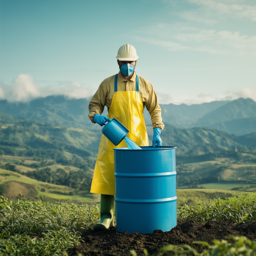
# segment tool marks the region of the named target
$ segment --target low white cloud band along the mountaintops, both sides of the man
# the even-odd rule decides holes
[[[36,86],[33,77],[20,74],[12,86],[1,84],[0,99],[10,102],[27,102],[37,97],[47,97],[49,95],[65,95],[71,99],[87,98],[92,95],[91,91],[86,90],[78,82],[63,83],[58,86]],[[250,98],[256,101],[256,89],[243,88],[241,90],[230,89],[218,96],[213,96],[207,92],[194,95],[172,95],[157,92],[157,99],[160,104],[202,104],[214,100],[235,100],[239,98]],[[173,100],[175,99],[175,100]]]

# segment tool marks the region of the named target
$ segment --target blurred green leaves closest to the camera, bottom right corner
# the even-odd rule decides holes
[[[196,255],[196,256],[256,256],[256,241],[246,239],[246,237],[234,237],[228,238],[234,239],[234,243],[228,243],[225,240],[218,241],[213,240],[213,245],[206,242],[194,242],[202,244],[207,249],[202,253],[196,252],[195,249],[191,248],[188,244],[173,245],[169,244],[159,249],[156,253],[151,256],[161,256],[166,252],[173,252],[173,255]],[[131,255],[137,256],[137,253],[133,250],[130,251]],[[144,249],[144,255],[149,256],[147,250]]]

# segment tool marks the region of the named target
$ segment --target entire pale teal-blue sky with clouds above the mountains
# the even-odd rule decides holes
[[[1,0],[0,97],[90,97],[132,44],[160,103],[256,100],[250,0]]]

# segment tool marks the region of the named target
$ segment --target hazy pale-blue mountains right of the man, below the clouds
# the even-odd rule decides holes
[[[252,99],[195,105],[161,104],[163,122],[179,128],[209,127],[237,135],[256,132],[256,102]],[[147,111],[145,111],[147,112]],[[150,124],[150,115],[145,113]]]

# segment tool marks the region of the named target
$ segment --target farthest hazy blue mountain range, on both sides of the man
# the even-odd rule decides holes
[[[28,103],[0,100],[0,110],[40,122],[49,122],[81,129],[100,129],[88,118],[90,99],[66,99],[49,96]],[[256,102],[252,99],[214,101],[204,104],[161,104],[164,124],[178,128],[208,127],[237,135],[256,132]],[[107,115],[104,111],[104,115]],[[144,111],[145,122],[150,125],[150,115]]]

